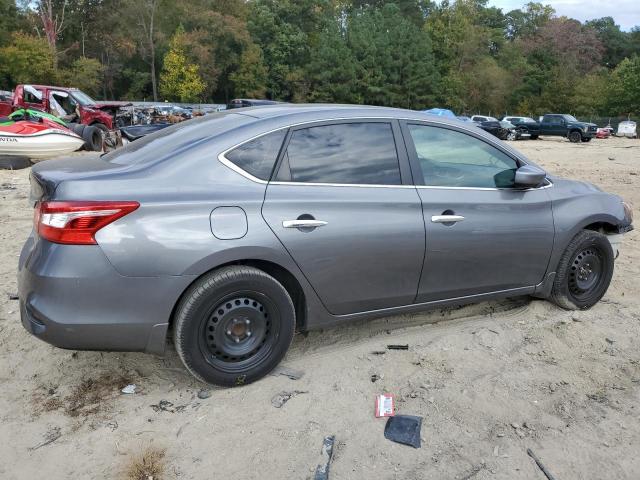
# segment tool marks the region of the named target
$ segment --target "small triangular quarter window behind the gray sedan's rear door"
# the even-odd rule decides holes
[[[287,130],[262,135],[227,152],[231,163],[260,180],[269,180]]]

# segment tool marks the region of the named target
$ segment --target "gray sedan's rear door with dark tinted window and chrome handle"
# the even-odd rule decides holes
[[[292,128],[262,213],[332,314],[414,301],[425,228],[396,121]]]

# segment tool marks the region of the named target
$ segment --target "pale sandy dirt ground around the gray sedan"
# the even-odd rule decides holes
[[[620,194],[639,217],[640,141],[513,145],[554,174]],[[637,231],[589,311],[519,298],[349,324],[295,338],[284,365],[299,380],[207,390],[172,349],[72,352],[26,333],[9,295],[31,228],[28,173],[0,171],[2,479],[144,478],[141,465],[154,480],[305,479],[327,435],[331,479],[544,480],[528,448],[557,480],[640,478]],[[403,343],[408,351],[372,353]],[[120,393],[128,383],[136,392]],[[293,396],[275,408],[281,392]],[[373,415],[381,392],[424,418],[420,449],[384,438]]]

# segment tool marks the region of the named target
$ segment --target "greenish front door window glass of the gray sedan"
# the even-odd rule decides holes
[[[479,138],[447,128],[409,125],[424,185],[510,188],[516,160]]]

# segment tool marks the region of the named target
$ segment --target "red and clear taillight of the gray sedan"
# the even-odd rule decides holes
[[[138,208],[138,202],[38,202],[35,229],[45,240],[72,245],[95,245],[101,228]]]

